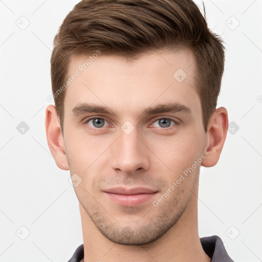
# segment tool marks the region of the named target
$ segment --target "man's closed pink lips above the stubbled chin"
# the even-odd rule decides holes
[[[139,206],[146,201],[150,200],[152,197],[156,195],[158,191],[144,188],[144,187],[136,187],[136,188],[123,188],[123,187],[116,187],[107,189],[104,193],[107,197],[121,205],[121,206]]]

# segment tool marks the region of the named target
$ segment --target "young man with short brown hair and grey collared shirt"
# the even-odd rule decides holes
[[[69,261],[232,261],[198,233],[200,166],[227,135],[223,71],[223,41],[190,0],[83,0],[65,17],[46,133],[79,200]]]

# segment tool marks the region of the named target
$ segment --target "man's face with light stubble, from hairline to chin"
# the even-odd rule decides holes
[[[111,241],[153,242],[197,191],[205,132],[193,53],[159,51],[133,61],[101,53],[81,72],[87,59],[71,58],[69,75],[80,75],[64,100],[77,198]]]

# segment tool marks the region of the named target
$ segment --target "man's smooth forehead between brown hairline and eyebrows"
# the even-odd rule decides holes
[[[195,60],[189,49],[156,51],[135,60],[114,55],[72,56],[64,106],[90,102],[135,111],[163,102],[180,102],[199,110]],[[195,108],[194,108],[195,107]]]

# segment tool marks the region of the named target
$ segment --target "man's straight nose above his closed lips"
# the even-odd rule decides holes
[[[136,128],[130,134],[120,130],[119,138],[111,148],[111,165],[125,174],[143,172],[149,168],[149,150],[143,139],[138,137]]]

